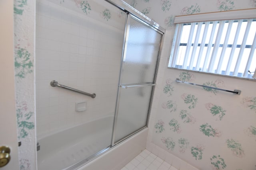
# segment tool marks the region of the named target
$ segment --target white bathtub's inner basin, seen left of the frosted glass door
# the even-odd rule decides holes
[[[38,170],[62,170],[108,147],[113,120],[105,117],[39,139]]]

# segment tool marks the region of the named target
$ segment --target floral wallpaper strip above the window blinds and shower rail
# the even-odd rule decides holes
[[[123,0],[165,29],[174,26],[174,16],[256,7],[256,0]]]

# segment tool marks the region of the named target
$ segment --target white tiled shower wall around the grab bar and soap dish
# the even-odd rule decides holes
[[[113,116],[115,110],[124,27],[110,26],[112,23],[94,20],[61,5],[46,0],[38,0],[36,4],[36,126],[39,139],[61,129]],[[68,5],[77,8],[73,1]],[[125,18],[116,17],[114,21],[124,23]],[[96,93],[96,98],[52,87],[52,80]],[[80,101],[87,102],[86,111],[75,111],[75,103]]]

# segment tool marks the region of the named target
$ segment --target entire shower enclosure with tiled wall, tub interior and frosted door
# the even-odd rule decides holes
[[[38,170],[74,169],[147,127],[164,29],[118,0],[36,11]]]

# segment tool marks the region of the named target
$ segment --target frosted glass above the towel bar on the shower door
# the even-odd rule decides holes
[[[162,35],[131,16],[122,84],[154,82]]]

